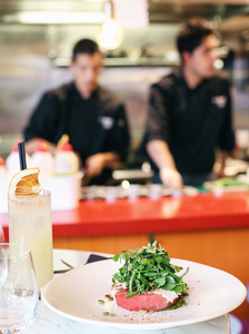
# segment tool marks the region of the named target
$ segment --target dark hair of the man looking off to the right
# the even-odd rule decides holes
[[[185,22],[177,37],[177,48],[181,55],[183,51],[192,52],[200,46],[202,39],[217,32],[211,29],[210,23],[202,18],[193,18]]]

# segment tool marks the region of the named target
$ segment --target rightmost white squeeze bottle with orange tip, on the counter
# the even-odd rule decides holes
[[[56,154],[56,174],[70,175],[79,171],[79,158],[73,153],[71,144],[63,143]]]

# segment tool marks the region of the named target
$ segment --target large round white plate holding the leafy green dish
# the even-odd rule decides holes
[[[189,285],[188,305],[175,311],[141,314],[130,312],[109,302],[111,277],[119,263],[112,259],[96,262],[63,274],[43,289],[42,298],[53,312],[73,321],[126,330],[161,330],[199,323],[223,315],[238,307],[246,298],[246,287],[235,276],[195,262],[171,259],[176,265],[189,267],[185,282]],[[98,299],[104,299],[104,305]],[[116,316],[106,316],[104,311]]]

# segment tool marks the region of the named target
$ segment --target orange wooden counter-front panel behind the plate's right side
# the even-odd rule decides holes
[[[171,257],[202,263],[228,272],[249,284],[249,228],[156,234]],[[229,292],[228,292],[229,293]],[[248,302],[232,312],[249,318]]]

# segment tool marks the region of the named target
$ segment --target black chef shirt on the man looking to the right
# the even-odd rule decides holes
[[[152,85],[149,104],[143,145],[167,141],[179,173],[210,173],[216,148],[229,153],[235,147],[227,79],[216,76],[190,89],[176,71]]]

